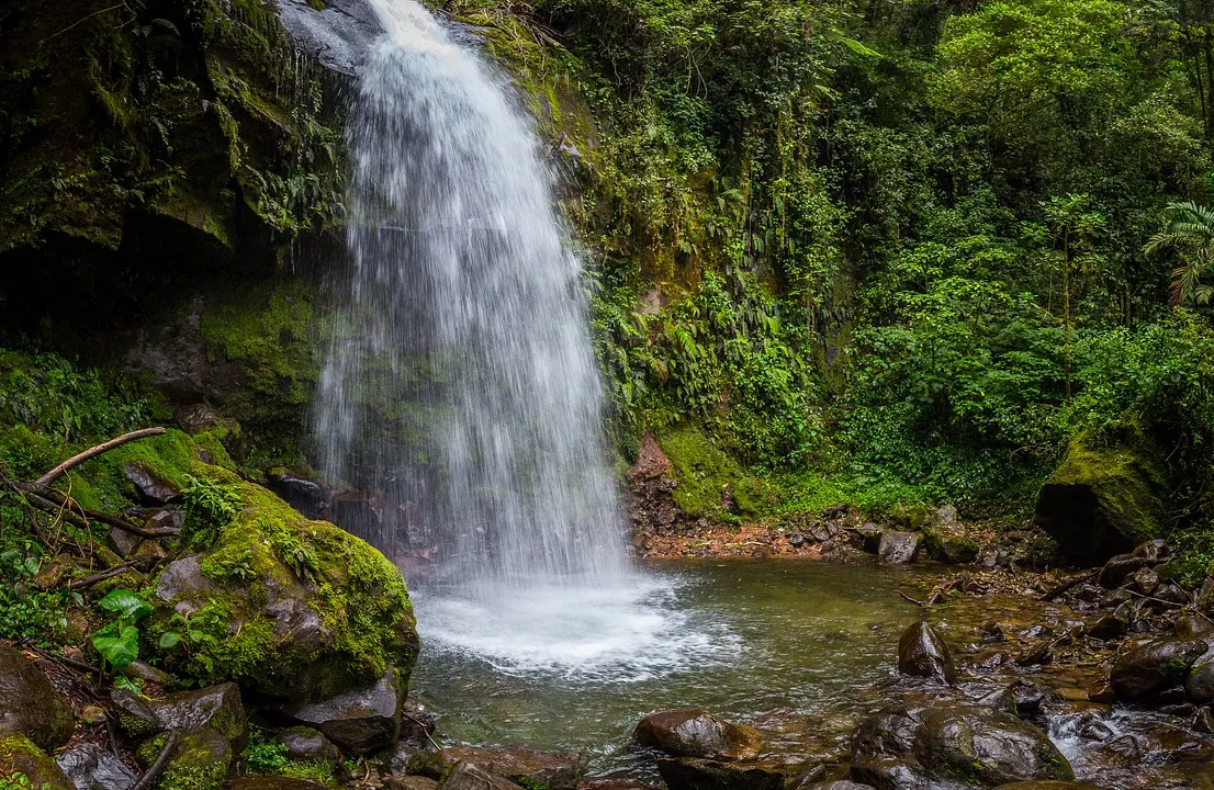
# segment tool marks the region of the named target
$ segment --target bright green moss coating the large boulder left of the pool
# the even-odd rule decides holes
[[[216,633],[199,654],[172,653],[166,663],[209,681],[289,697],[308,678],[316,698],[369,683],[396,667],[408,683],[416,658],[409,593],[399,570],[369,544],[329,524],[308,521],[270,490],[216,466],[194,473],[238,491],[243,508],[203,555],[216,581],[205,606],[228,612],[238,629]],[[274,633],[266,613],[268,590],[311,607],[328,635],[305,644]],[[171,608],[152,618],[152,641],[168,630]]]

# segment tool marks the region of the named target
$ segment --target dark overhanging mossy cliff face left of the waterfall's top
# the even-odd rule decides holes
[[[191,273],[272,267],[340,215],[352,63],[305,33],[365,19],[283,0],[297,45],[257,0],[110,5],[0,11],[5,329],[64,297],[130,312]]]

